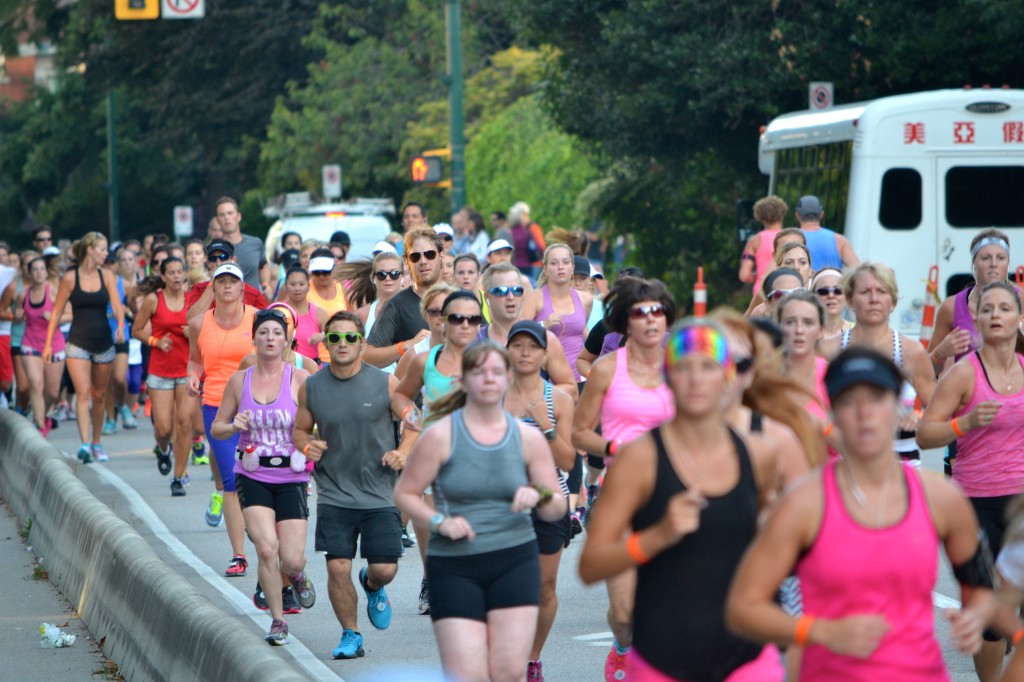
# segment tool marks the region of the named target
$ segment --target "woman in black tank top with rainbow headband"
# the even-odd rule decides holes
[[[726,424],[736,366],[725,334],[686,319],[665,348],[676,415],[617,453],[595,505],[580,576],[595,583],[636,567],[631,682],[784,677],[778,650],[726,631],[732,574],[776,479],[763,442]]]

